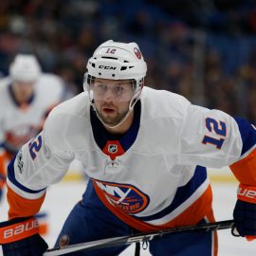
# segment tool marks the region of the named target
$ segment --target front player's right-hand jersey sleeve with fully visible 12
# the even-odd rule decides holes
[[[242,183],[256,185],[255,128],[219,110],[190,105],[180,132],[180,161],[230,166]]]

